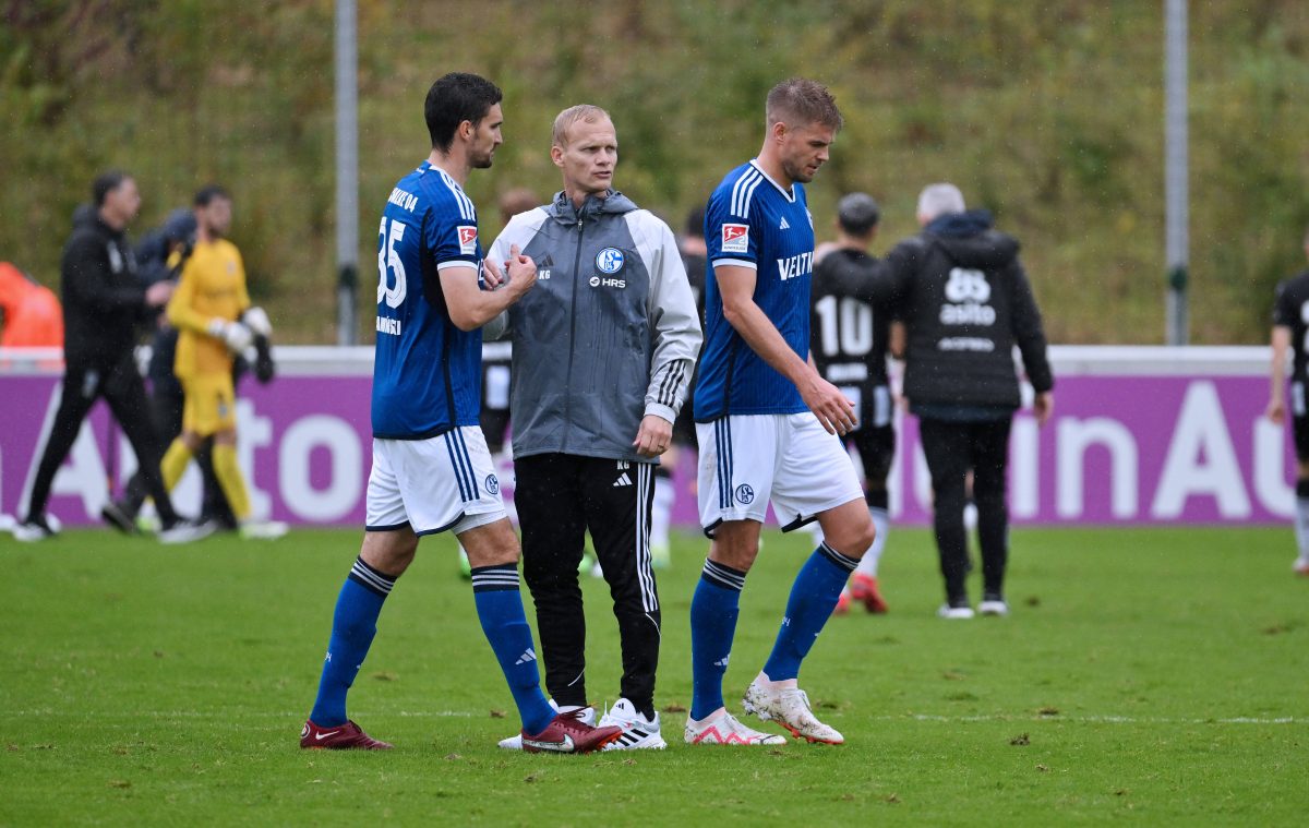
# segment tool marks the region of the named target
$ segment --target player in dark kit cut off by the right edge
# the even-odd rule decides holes
[[[1309,255],[1309,231],[1304,238]],[[1305,406],[1305,383],[1309,381],[1309,270],[1278,284],[1272,307],[1272,386],[1268,394],[1268,419],[1282,424],[1287,418],[1287,348],[1293,350],[1291,371],[1291,430],[1296,442],[1296,555],[1293,569],[1309,575],[1309,409]]]

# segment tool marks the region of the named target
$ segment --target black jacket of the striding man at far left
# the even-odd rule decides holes
[[[71,366],[110,367],[131,355],[136,326],[148,310],[127,236],[99,216],[79,224],[64,246],[60,273],[64,360]]]

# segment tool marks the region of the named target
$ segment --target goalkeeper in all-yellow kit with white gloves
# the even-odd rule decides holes
[[[182,267],[168,318],[178,330],[173,372],[182,383],[182,434],[164,453],[164,483],[171,491],[206,439],[213,438],[213,474],[242,537],[280,537],[287,525],[250,519],[250,495],[237,465],[236,388],[232,358],[270,337],[262,308],[250,307],[241,252],[228,241],[232,197],[216,185],[195,194],[195,249]]]

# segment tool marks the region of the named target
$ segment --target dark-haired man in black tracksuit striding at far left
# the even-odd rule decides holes
[[[107,172],[92,183],[92,212],[75,214],[72,237],[64,246],[64,381],[63,396],[31,486],[27,512],[13,535],[39,541],[58,533],[46,515],[55,473],[68,456],[82,421],[99,398],[109,409],[145,469],[164,542],[185,542],[209,532],[203,524],[178,518],[158,472],[160,448],[149,422],[145,386],[136,369],[137,325],[164,305],[173,286],[144,287],[136,278],[136,257],[127,225],[140,210],[136,182],[122,172]]]

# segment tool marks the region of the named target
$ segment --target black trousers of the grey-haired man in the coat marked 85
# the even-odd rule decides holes
[[[945,597],[966,601],[963,579],[969,569],[963,529],[965,480],[973,472],[973,499],[978,507],[978,544],[982,546],[982,588],[1004,593],[1004,567],[1009,558],[1009,508],[1005,503],[1005,468],[1009,464],[1012,417],[986,422],[919,419],[923,453],[932,473],[936,499],[933,527],[941,555]]]

